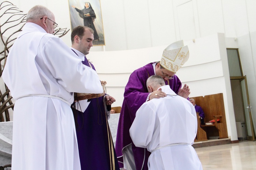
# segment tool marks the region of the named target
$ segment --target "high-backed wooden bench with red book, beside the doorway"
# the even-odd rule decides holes
[[[218,136],[218,139],[228,138],[223,94],[219,93],[204,97],[200,96],[190,98],[195,99],[196,105],[202,107],[205,114],[204,122],[215,120],[215,123],[212,125],[201,125],[200,119],[197,115],[198,130],[195,142],[205,140],[205,133],[207,135],[207,139],[216,136]],[[217,119],[220,121],[217,122]]]

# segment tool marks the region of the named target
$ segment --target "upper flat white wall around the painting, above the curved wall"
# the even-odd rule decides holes
[[[55,13],[61,28],[71,28],[69,1],[10,0],[25,13],[37,4]],[[254,32],[254,0],[101,0],[106,51],[140,49],[225,33]],[[70,32],[62,39],[70,45]],[[102,47],[91,50],[103,51]]]

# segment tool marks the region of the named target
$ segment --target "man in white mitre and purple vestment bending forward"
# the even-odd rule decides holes
[[[116,154],[119,167],[127,170],[147,170],[147,161],[150,156],[144,148],[136,147],[130,137],[129,129],[140,106],[153,98],[166,97],[161,90],[151,93],[147,91],[146,81],[151,75],[160,75],[165,84],[179,96],[188,98],[190,94],[188,86],[183,88],[180,79],[175,75],[182,65],[188,60],[188,47],[183,40],[169,45],[164,51],[160,62],[149,63],[133,71],[125,87],[124,101],[120,112],[117,128]]]

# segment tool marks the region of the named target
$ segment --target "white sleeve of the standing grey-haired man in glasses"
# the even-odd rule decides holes
[[[83,65],[82,60],[58,37],[42,39],[42,59],[58,84],[69,92],[103,92],[95,70]]]

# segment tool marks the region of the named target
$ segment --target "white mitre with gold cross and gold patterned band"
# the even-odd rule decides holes
[[[176,41],[163,50],[160,65],[163,68],[176,73],[183,64],[186,63],[188,57],[188,47],[184,46],[183,40]]]

